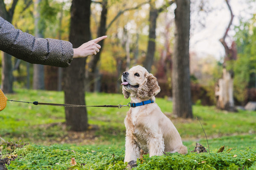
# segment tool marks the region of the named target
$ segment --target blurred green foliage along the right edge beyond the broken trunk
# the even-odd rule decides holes
[[[246,97],[246,88],[250,88],[250,81],[255,87],[255,79],[250,79],[251,75],[256,75],[256,27],[255,15],[251,20],[241,22],[236,27],[236,44],[238,49],[238,59],[234,62],[234,96],[239,101]]]

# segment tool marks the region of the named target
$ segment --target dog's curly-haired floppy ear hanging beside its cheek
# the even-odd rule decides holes
[[[153,74],[146,73],[143,83],[138,88],[138,96],[140,98],[148,98],[155,96],[160,92],[157,78]]]

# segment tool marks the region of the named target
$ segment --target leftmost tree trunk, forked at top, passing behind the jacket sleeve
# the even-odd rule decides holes
[[[18,0],[12,1],[12,6],[9,10],[6,9],[3,0],[0,0],[0,16],[12,23],[12,17]],[[1,89],[4,93],[13,93],[13,75],[12,75],[12,56],[7,53],[2,53],[2,84]]]

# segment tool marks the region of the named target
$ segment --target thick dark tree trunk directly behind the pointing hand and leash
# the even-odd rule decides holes
[[[90,0],[73,0],[70,8],[70,42],[73,48],[90,40]],[[85,64],[86,58],[73,59],[64,68],[65,103],[85,105]],[[66,107],[66,124],[71,130],[87,130],[87,109],[85,107]]]

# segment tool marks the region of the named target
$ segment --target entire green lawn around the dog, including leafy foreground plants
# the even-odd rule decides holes
[[[10,100],[25,102],[64,103],[64,93],[55,91],[17,89],[15,94],[6,94],[6,96]],[[86,102],[87,105],[126,105],[130,101],[124,99],[122,94],[87,93]],[[246,164],[251,168],[256,167],[255,111],[229,113],[216,110],[214,106],[193,105],[194,118],[180,119],[172,115],[171,101],[157,98],[156,102],[177,127],[189,152],[194,150],[196,142],[203,144],[208,150],[202,124],[212,154],[217,154],[218,149],[225,145],[224,153],[218,153],[221,155],[219,159],[222,160],[223,157],[223,162],[227,163],[226,159],[230,159],[230,156],[241,154],[240,157],[243,157],[239,160],[241,164]],[[91,169],[101,169],[102,167],[123,169],[126,166],[122,163],[125,142],[123,121],[128,109],[127,107],[120,109],[87,108],[90,130],[76,133],[66,130],[68,127],[64,126],[64,107],[7,101],[5,110],[0,112],[0,137],[5,141],[19,141],[19,144],[26,143],[27,145],[13,149],[8,147],[8,144],[1,145],[1,154],[3,156],[17,154],[18,156],[18,159],[15,159],[8,169],[40,169],[39,167],[41,167],[41,169],[64,170],[70,167],[71,157],[76,158],[79,166],[84,164],[79,167],[81,169],[88,169],[88,167]],[[231,148],[231,152],[228,153],[226,150]],[[175,158],[189,161],[194,158],[194,153],[189,153],[186,156],[188,157],[175,155]],[[207,166],[215,167],[215,164],[218,164],[218,161],[216,163],[216,160],[213,160],[218,155],[208,157],[206,154],[203,157],[210,161],[206,164],[200,162],[195,164],[191,161],[191,166],[207,169]],[[167,158],[169,157],[160,157],[163,160]],[[198,159],[201,160],[201,158]],[[39,160],[43,160],[43,162]],[[144,165],[151,164],[148,163],[150,160],[151,158],[146,158],[145,162],[147,163]],[[159,164],[160,167],[162,165],[159,162],[163,160],[152,158],[151,161]],[[237,169],[237,167],[241,167],[240,163],[235,161],[227,164],[229,168],[233,166],[234,169]],[[141,168],[143,169],[144,165],[138,164],[137,168],[140,169],[140,166],[143,166]],[[169,162],[168,166],[180,165]]]

